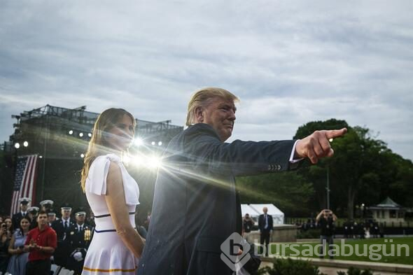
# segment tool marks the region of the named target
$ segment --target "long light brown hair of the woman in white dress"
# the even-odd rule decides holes
[[[87,174],[89,174],[90,165],[99,157],[99,155],[105,155],[110,152],[109,144],[105,140],[105,132],[108,132],[116,123],[123,118],[123,115],[129,115],[132,119],[132,123],[135,127],[136,121],[133,115],[122,108],[109,108],[103,111],[96,122],[94,122],[92,137],[87,147],[85,159],[83,160],[83,169],[81,172],[82,178],[80,184],[82,185],[83,192],[85,192],[85,184]]]

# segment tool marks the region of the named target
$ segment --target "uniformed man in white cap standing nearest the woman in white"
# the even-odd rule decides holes
[[[80,275],[85,262],[87,248],[92,241],[92,226],[85,223],[86,212],[79,209],[75,213],[76,225],[72,225],[67,235],[69,243],[69,258],[67,260],[67,269],[74,270],[74,274]]]

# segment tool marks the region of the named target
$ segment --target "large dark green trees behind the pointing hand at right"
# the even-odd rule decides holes
[[[319,209],[326,206],[325,186],[329,175],[330,208],[346,209],[347,218],[353,218],[357,204],[372,206],[387,196],[402,206],[412,206],[413,201],[409,199],[413,196],[412,162],[392,153],[370,129],[349,127],[344,120],[330,119],[302,125],[294,138],[302,139],[320,129],[342,127],[347,127],[347,134],[330,143],[335,155],[316,165],[307,162],[299,172],[315,191],[309,203],[318,205]]]

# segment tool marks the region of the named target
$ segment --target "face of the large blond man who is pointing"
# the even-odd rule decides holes
[[[202,121],[211,125],[220,136],[221,141],[226,141],[232,134],[235,122],[235,108],[232,99],[225,100],[219,97],[211,99],[211,103],[202,111]],[[198,119],[199,120],[199,119]]]

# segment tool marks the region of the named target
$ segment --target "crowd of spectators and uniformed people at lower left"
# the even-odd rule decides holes
[[[13,275],[50,274],[50,266],[80,274],[93,236],[93,216],[78,209],[72,218],[70,206],[62,206],[57,218],[50,199],[29,207],[31,200],[20,199],[20,211],[1,217],[0,272]],[[44,237],[44,238],[43,238]]]

